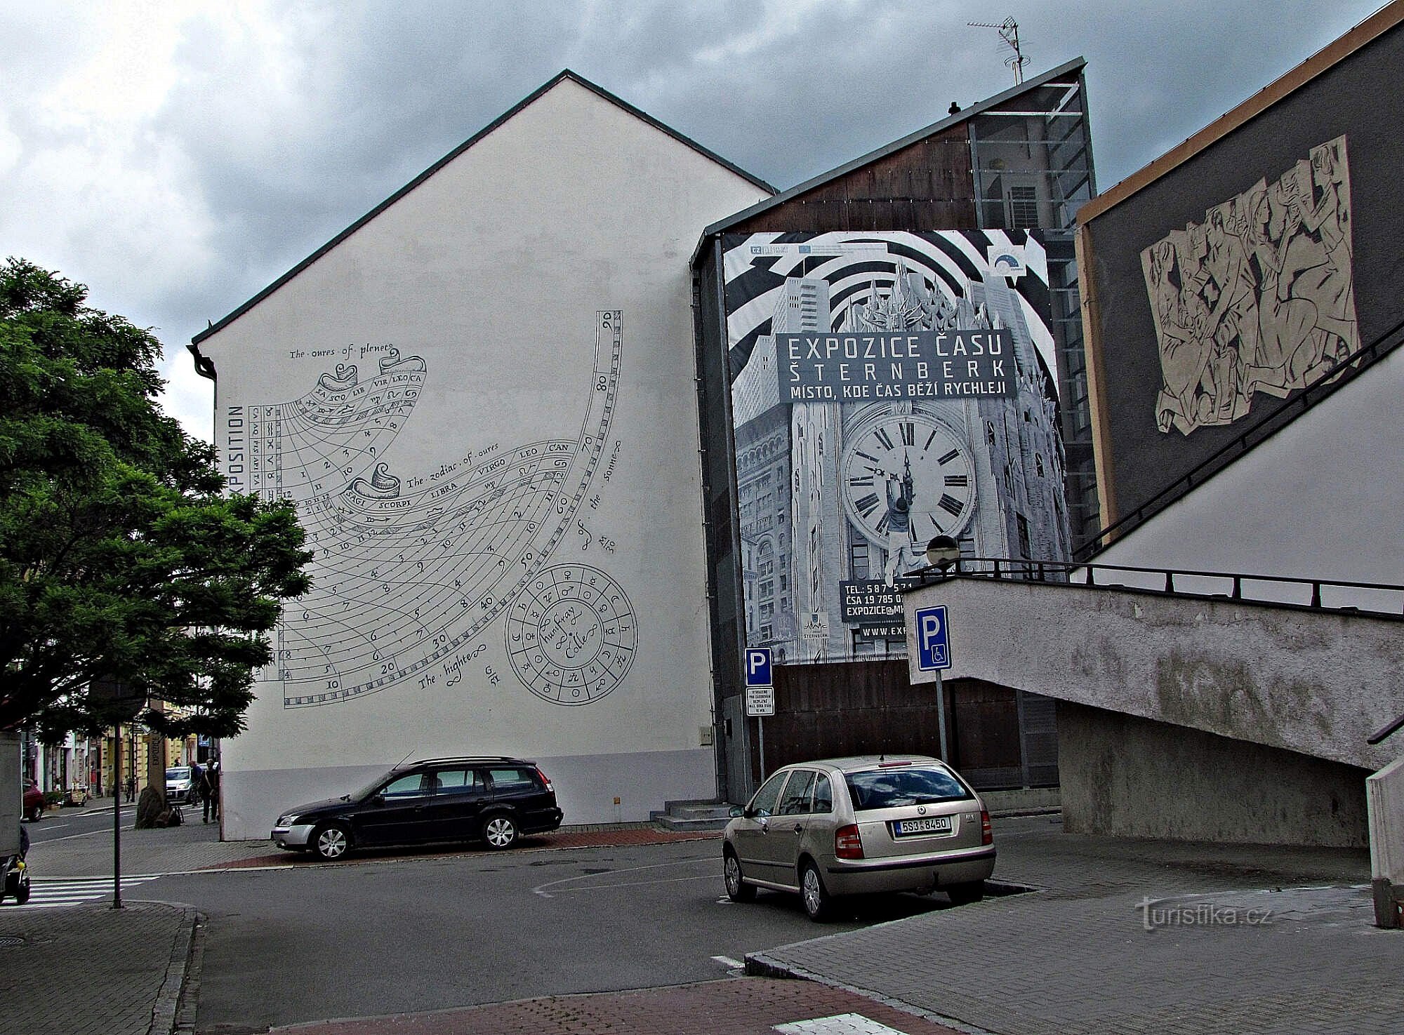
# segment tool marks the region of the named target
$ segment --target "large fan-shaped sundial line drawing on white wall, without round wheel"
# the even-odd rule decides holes
[[[229,408],[241,432],[230,457],[261,496],[298,503],[316,551],[313,586],[284,606],[275,665],[260,677],[279,684],[270,693],[281,690],[284,707],[458,682],[475,642],[578,525],[622,348],[622,313],[598,310],[578,425],[552,418],[552,438],[493,442],[417,477],[396,474],[393,457],[431,387],[423,356],[388,346],[369,363],[338,363],[292,401]]]

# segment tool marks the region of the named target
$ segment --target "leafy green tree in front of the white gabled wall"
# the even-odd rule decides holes
[[[154,729],[232,736],[312,554],[292,503],[223,495],[157,405],[160,342],[86,299],[0,266],[0,729],[97,732],[115,680],[177,705]]]

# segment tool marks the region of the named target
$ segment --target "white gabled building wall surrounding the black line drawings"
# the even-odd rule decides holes
[[[699,736],[712,722],[712,684],[687,259],[702,227],[764,196],[563,79],[201,342],[218,369],[216,445],[226,466],[250,445],[239,438],[246,426],[232,438],[234,407],[288,404],[337,363],[355,363],[365,384],[385,345],[421,356],[413,412],[375,457],[410,495],[445,484],[452,475],[434,481],[441,466],[469,452],[476,461],[493,443],[505,454],[577,439],[597,313],[622,311],[616,411],[550,564],[591,565],[623,589],[637,618],[623,682],[580,707],[535,696],[507,656],[504,617],[463,644],[472,658],[452,687],[442,659],[375,693],[313,707],[285,707],[284,683],[261,682],[247,732],[225,742],[227,837],[265,837],[279,809],[351,791],[404,755],[538,759],[567,823],[643,819],[665,799],[715,794],[713,752]],[[365,346],[376,351],[362,355]],[[282,426],[288,484],[314,452],[306,435],[289,446],[292,424],[288,417]],[[261,429],[265,445],[272,435]],[[416,478],[424,481],[411,489]],[[373,564],[348,565],[336,546],[317,543],[320,590],[355,586]],[[416,592],[396,589],[386,600]],[[320,628],[344,656],[357,648],[343,637],[373,624],[362,603],[351,610],[361,614],[355,628],[329,631],[312,618],[306,628]],[[316,617],[330,621],[331,611]],[[399,621],[389,610],[382,617],[386,628]],[[305,651],[312,638],[289,642]],[[402,669],[423,654],[404,649]],[[430,675],[435,682],[421,683]],[[305,682],[288,693],[303,690]]]

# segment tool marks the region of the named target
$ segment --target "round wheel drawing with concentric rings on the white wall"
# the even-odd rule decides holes
[[[590,704],[629,673],[639,630],[629,597],[598,568],[559,564],[507,611],[507,655],[522,684],[552,704]]]

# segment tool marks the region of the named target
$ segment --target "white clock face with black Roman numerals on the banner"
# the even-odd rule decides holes
[[[974,513],[974,464],[965,438],[921,410],[882,408],[848,433],[840,463],[844,512],[868,540],[925,544],[956,536]]]

